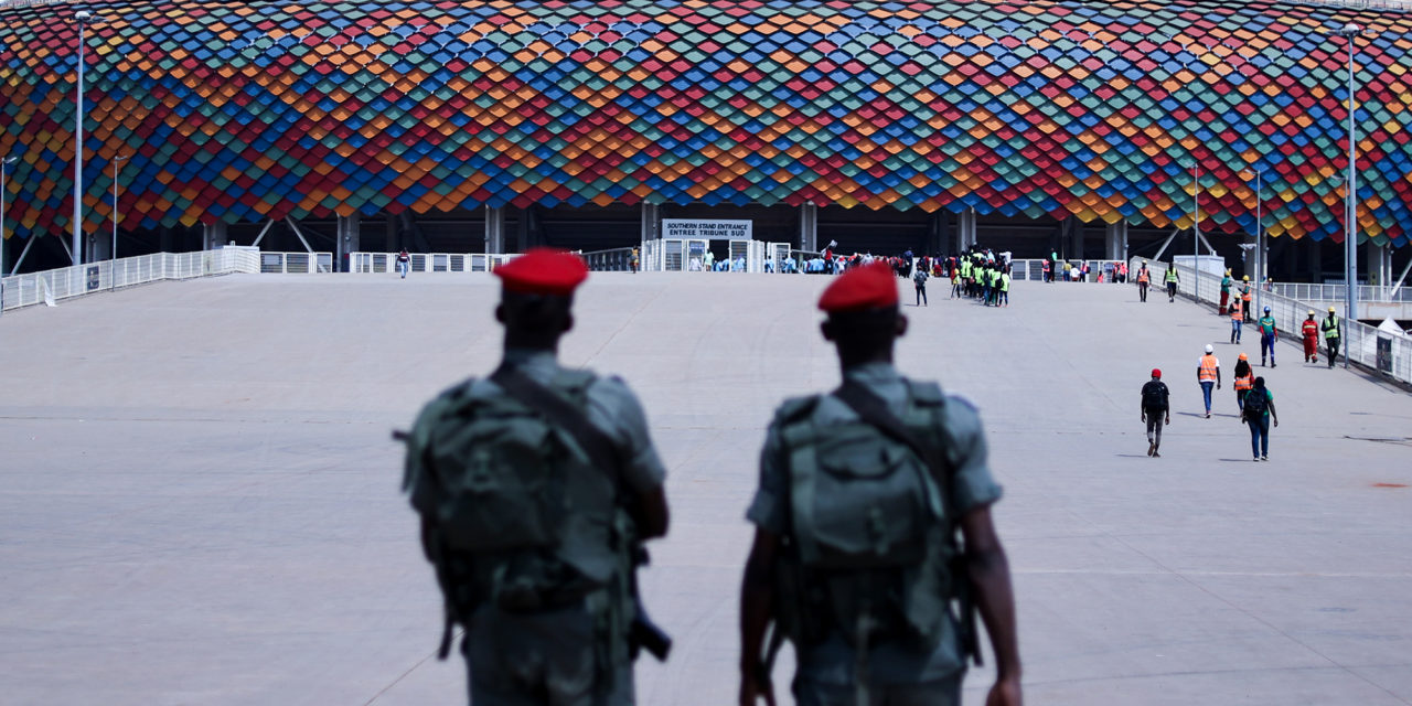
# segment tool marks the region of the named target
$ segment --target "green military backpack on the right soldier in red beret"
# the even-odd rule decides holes
[[[781,411],[791,527],[777,620],[796,645],[825,638],[832,624],[860,651],[878,640],[933,648],[953,618],[950,602],[963,597],[945,395],[935,383],[908,387],[895,421],[931,459],[878,424],[816,424],[819,397]]]

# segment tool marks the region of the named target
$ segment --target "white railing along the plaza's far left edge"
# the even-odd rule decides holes
[[[291,267],[291,263],[298,261],[299,257],[305,261],[305,270]],[[309,253],[261,253],[251,247],[222,247],[196,253],[124,257],[42,273],[17,274],[0,278],[0,311],[54,304],[59,299],[161,280],[191,280],[232,273],[318,271],[311,268],[309,263],[328,261],[329,257],[329,253],[316,253],[315,257],[311,257]],[[265,265],[270,263],[280,263],[280,268],[267,270]]]

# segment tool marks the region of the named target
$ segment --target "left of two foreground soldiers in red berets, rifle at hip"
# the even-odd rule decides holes
[[[666,534],[665,470],[627,385],[556,360],[583,261],[537,249],[494,274],[503,363],[429,402],[407,439],[446,599],[441,657],[463,626],[476,706],[628,705],[637,645],[665,655],[634,589],[641,542]]]

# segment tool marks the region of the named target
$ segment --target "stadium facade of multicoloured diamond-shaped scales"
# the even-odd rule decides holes
[[[1341,240],[1412,223],[1412,17],[1271,1],[191,1],[0,10],[21,236],[626,202],[974,208]]]

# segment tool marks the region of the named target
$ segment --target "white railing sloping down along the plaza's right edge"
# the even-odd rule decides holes
[[[1130,282],[1137,282],[1137,270],[1141,264],[1141,258],[1134,258],[1132,263],[1128,264]],[[1161,295],[1166,291],[1166,285],[1163,282],[1166,278],[1166,263],[1148,263],[1148,271],[1152,273],[1152,288],[1156,289],[1152,295]],[[1195,291],[1195,273],[1190,267],[1178,265],[1176,275],[1178,294],[1190,298]],[[1275,287],[1278,288],[1279,285]],[[1316,289],[1309,289],[1309,292],[1316,292]],[[1209,274],[1203,277],[1200,302],[1214,308],[1217,305],[1216,298],[1219,295],[1220,280],[1216,280]],[[1315,302],[1300,301],[1274,291],[1258,292],[1257,297],[1257,309],[1254,315],[1247,316],[1247,321],[1258,319],[1264,315],[1264,308],[1269,306],[1269,315],[1275,318],[1275,328],[1279,329],[1281,340],[1300,349],[1303,347],[1303,336],[1299,329],[1303,321],[1309,316],[1309,311],[1313,309],[1315,321],[1323,321],[1323,318],[1329,315],[1329,299]],[[1343,340],[1340,342],[1341,346],[1339,350],[1340,356],[1347,356],[1350,363],[1382,373],[1384,376],[1401,383],[1412,383],[1412,336],[1389,333],[1380,330],[1377,326],[1368,326],[1367,323],[1344,321],[1341,313],[1339,315],[1339,321],[1343,323]],[[1324,339],[1320,332],[1320,356],[1324,354],[1323,343]]]

